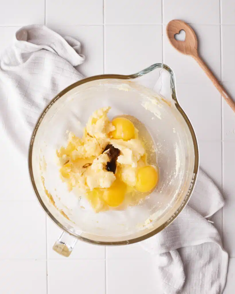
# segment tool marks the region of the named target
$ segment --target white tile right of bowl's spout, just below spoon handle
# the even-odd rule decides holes
[[[179,104],[192,122],[199,140],[221,140],[221,97],[210,81],[177,83]]]

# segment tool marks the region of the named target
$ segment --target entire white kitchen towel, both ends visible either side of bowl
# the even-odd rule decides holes
[[[0,60],[0,117],[3,129],[25,154],[32,128],[51,98],[82,78],[80,43],[45,26],[16,32]],[[189,205],[154,237],[140,243],[153,255],[159,294],[219,294],[226,281],[228,255],[207,221],[224,205],[214,183],[199,171]]]

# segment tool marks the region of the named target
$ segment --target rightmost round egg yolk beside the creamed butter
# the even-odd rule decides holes
[[[157,185],[158,180],[158,171],[153,166],[141,167],[137,172],[135,188],[142,193],[149,192]]]

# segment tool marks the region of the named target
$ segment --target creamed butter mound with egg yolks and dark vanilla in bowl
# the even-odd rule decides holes
[[[95,111],[82,138],[69,132],[67,146],[56,151],[62,181],[69,191],[86,197],[95,212],[135,205],[159,180],[157,164],[148,164],[156,149],[139,138],[137,128],[125,116],[110,122],[109,110]]]

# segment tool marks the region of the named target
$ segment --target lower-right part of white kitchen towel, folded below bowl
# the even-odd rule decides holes
[[[207,220],[223,206],[220,191],[199,170],[189,204],[167,228],[140,243],[153,255],[161,294],[223,293],[228,254]]]

